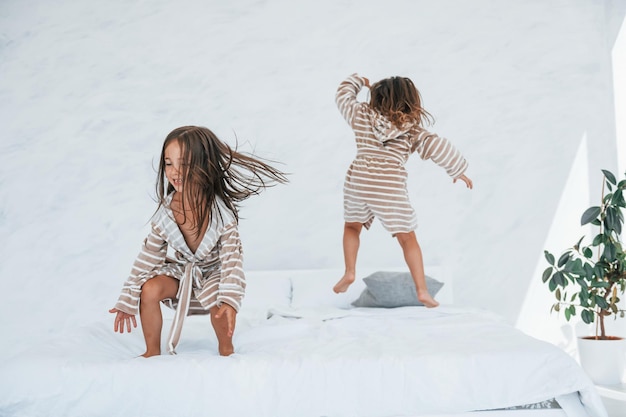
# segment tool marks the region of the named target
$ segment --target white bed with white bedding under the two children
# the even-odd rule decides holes
[[[454,306],[443,268],[437,309],[353,308],[365,284],[336,295],[340,273],[248,272],[230,357],[195,316],[176,356],[136,358],[141,331],[107,320],[3,358],[0,416],[606,417],[567,354]]]

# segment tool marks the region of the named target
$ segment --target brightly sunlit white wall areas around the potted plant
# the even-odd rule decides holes
[[[590,153],[592,146],[596,143],[590,142],[586,135],[581,141],[576,159],[571,167],[567,183],[561,194],[558,208],[555,211],[552,224],[546,237],[543,247],[548,248],[556,256],[559,256],[565,249],[573,246],[575,242],[584,234],[594,236],[598,231],[592,226],[577,227],[580,224],[582,212],[590,205],[598,205],[601,191],[600,184],[594,178],[591,182],[591,196],[589,192],[580,187],[580,184],[590,180],[590,175],[594,172],[592,166],[602,168],[603,164],[616,162],[617,168],[613,170],[620,173],[623,178],[626,169],[626,136],[624,136],[624,100],[626,100],[626,89],[624,88],[626,79],[626,24],[624,24],[623,8],[626,3],[622,3],[622,11],[617,12],[614,7],[616,2],[607,3],[605,9],[607,17],[606,37],[611,45],[611,67],[613,78],[614,115],[616,126],[616,156],[614,158],[593,158]],[[621,20],[620,20],[621,19]],[[589,244],[590,238],[586,238],[583,244]],[[537,267],[533,276],[541,276],[547,263],[543,256],[537,262]],[[622,297],[621,306],[626,308],[625,297]],[[579,316],[573,317],[570,322],[563,319],[563,315],[553,313],[546,317],[545,312],[555,303],[556,299],[552,293],[546,291],[546,286],[540,280],[534,280],[528,288],[522,309],[518,314],[517,326],[535,337],[548,340],[561,346],[563,349],[576,355],[576,336],[587,336],[595,334],[595,325],[585,325]],[[595,323],[597,325],[597,321]],[[626,335],[626,321],[613,320],[613,317],[606,320],[607,334]]]

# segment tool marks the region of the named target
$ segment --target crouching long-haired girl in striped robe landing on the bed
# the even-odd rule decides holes
[[[279,170],[231,149],[204,127],[167,135],[159,163],[158,207],[122,293],[109,310],[114,330],[137,327],[150,357],[161,353],[160,302],[175,309],[167,350],[175,354],[184,317],[210,314],[220,355],[233,353],[235,315],[245,291],[237,203],[287,179]],[[175,259],[167,257],[168,246]]]

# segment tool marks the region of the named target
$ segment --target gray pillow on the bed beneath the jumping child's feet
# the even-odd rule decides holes
[[[363,278],[367,286],[359,298],[352,302],[354,307],[403,307],[423,306],[417,299],[415,282],[410,272],[374,272]],[[443,282],[426,275],[426,287],[435,296]]]

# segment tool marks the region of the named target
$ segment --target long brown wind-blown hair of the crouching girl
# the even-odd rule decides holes
[[[183,178],[182,211],[185,203],[191,204],[192,222],[196,237],[202,233],[218,210],[215,199],[219,197],[239,220],[238,204],[263,189],[286,183],[286,175],[253,155],[238,152],[206,127],[183,126],[172,130],[161,151],[156,184],[159,206],[166,203],[166,197],[174,187],[165,176],[165,148],[172,142],[181,147]],[[157,208],[158,210],[158,208]],[[186,214],[184,221],[187,221]]]

